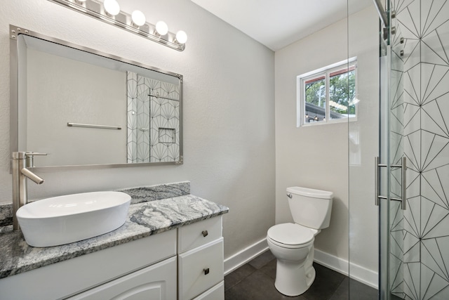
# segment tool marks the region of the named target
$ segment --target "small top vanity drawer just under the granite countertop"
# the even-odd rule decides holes
[[[222,237],[222,216],[182,226],[177,230],[177,252],[185,252]]]

